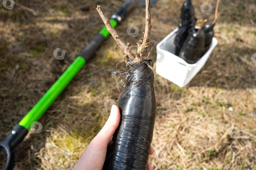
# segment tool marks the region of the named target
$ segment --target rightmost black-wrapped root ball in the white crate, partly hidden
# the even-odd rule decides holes
[[[214,30],[213,30],[214,26],[215,24],[205,24],[204,27],[202,28],[202,30],[205,33],[205,44],[204,44],[204,50],[201,56],[203,56],[211,46],[211,41],[212,41],[212,38],[214,37]]]

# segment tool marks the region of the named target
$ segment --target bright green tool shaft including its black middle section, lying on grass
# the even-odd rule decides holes
[[[117,26],[116,20],[111,19],[110,22],[114,28]],[[33,126],[32,123],[36,122],[44,114],[52,102],[73,79],[76,73],[80,71],[85,62],[92,58],[94,51],[100,47],[109,35],[110,33],[107,31],[105,26],[76,58],[76,60],[67,68],[67,70],[58,78],[45,95],[37,102],[37,104],[19,122],[19,125],[29,130],[30,127]]]

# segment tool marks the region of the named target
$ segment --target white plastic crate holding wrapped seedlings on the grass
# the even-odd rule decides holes
[[[194,64],[175,55],[174,39],[178,28],[156,46],[156,73],[180,87],[187,87],[192,78],[202,69],[218,41],[213,37],[209,50]]]

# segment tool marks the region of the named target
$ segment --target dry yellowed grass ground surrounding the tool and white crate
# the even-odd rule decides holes
[[[202,3],[192,0],[198,20]],[[46,93],[81,50],[104,26],[119,0],[23,1],[0,7],[0,139]],[[158,0],[152,8],[151,38],[159,43],[178,24],[183,1]],[[21,5],[22,4],[22,5]],[[154,169],[256,169],[256,1],[221,0],[215,26],[218,45],[187,88],[155,74],[157,117],[149,161]],[[144,29],[143,7],[117,27],[125,43],[136,45]],[[135,25],[139,36],[127,34]],[[64,49],[64,60],[53,56]],[[101,46],[16,150],[15,169],[71,169],[107,121],[106,99],[118,103],[123,91],[111,71],[122,70],[123,55],[112,37]],[[153,48],[150,59],[156,61]],[[155,68],[154,68],[155,71]],[[175,73],[173,73],[175,74]],[[232,107],[232,109],[231,109]],[[233,130],[233,132],[232,132]],[[1,165],[2,168],[2,165]]]

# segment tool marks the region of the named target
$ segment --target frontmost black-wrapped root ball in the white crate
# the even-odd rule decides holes
[[[179,57],[189,64],[194,64],[200,58],[204,50],[205,34],[204,31],[192,31],[186,38],[180,50]]]

